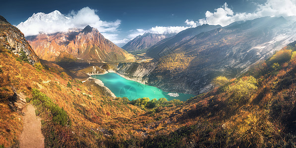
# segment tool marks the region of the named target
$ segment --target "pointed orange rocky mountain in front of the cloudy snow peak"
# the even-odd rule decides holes
[[[43,60],[56,61],[66,52],[80,62],[104,63],[123,61],[132,56],[106,39],[97,29],[86,26],[64,33],[39,34],[27,37],[36,54]],[[63,53],[64,54],[64,53]]]

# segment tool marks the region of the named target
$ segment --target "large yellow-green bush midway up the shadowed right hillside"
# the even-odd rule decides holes
[[[253,76],[244,76],[236,83],[228,86],[226,91],[231,94],[229,103],[235,105],[248,102],[253,93],[258,89],[256,84],[256,78]]]

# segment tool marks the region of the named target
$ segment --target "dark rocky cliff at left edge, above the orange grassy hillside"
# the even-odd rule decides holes
[[[33,51],[30,44],[16,27],[12,26],[6,19],[0,16],[0,44],[14,54],[25,56],[28,62],[35,64],[39,62],[38,56]]]

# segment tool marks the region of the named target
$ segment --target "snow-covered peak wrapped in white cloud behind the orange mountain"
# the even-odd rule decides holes
[[[21,22],[16,27],[25,36],[38,35],[39,33],[64,32],[70,28],[84,28],[87,25],[97,28],[102,33],[116,32],[120,25],[120,20],[114,22],[103,21],[95,13],[95,9],[84,7],[79,11],[71,11],[67,16],[58,10],[45,14],[39,12],[33,14],[25,22]]]

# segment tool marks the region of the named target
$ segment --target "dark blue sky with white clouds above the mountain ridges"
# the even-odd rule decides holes
[[[13,25],[25,22],[33,13],[50,13],[54,10],[75,18],[84,8],[87,11],[84,14],[95,14],[98,21],[101,21],[93,27],[97,26],[105,37],[119,46],[123,45],[120,41],[127,42],[144,32],[166,33],[170,29],[178,32],[202,23],[226,26],[237,20],[267,15],[295,15],[296,10],[295,0],[5,0],[1,5],[0,15]],[[276,5],[278,8],[275,8]],[[270,8],[275,11],[269,11]],[[101,28],[102,26],[105,28]],[[156,26],[179,28],[155,28]],[[25,25],[23,27],[29,28]]]

